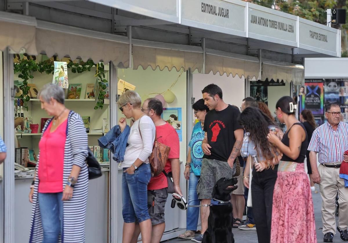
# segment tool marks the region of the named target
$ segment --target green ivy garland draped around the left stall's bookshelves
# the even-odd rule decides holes
[[[23,91],[23,94],[19,96],[19,99],[23,99],[24,101],[24,107],[28,110],[27,102],[30,100],[29,90],[30,86],[28,86],[28,80],[29,78],[34,78],[33,73],[34,72],[40,72],[40,73],[46,73],[46,74],[52,74],[54,72],[54,65],[53,61],[47,60],[47,61],[40,61],[37,63],[32,58],[28,58],[29,56],[26,56],[27,58],[19,59],[18,62],[14,63],[14,73],[20,72],[21,74],[18,75],[19,78],[23,79],[23,84],[19,86],[19,89]],[[74,63],[71,60],[69,60],[67,64],[68,68],[71,69],[72,73],[83,73],[85,71],[91,70],[92,67],[97,67],[97,70],[95,71],[95,77],[98,79],[98,85],[99,85],[99,95],[97,98],[96,105],[94,107],[95,110],[97,109],[103,109],[104,107],[104,95],[106,92],[104,91],[106,89],[106,84],[108,81],[105,79],[105,72],[104,72],[104,64],[97,63],[95,64],[93,60],[88,60],[81,65],[78,63]]]

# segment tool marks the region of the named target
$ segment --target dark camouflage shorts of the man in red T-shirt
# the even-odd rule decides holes
[[[167,188],[148,190],[148,209],[152,225],[164,223],[164,208],[167,197]]]

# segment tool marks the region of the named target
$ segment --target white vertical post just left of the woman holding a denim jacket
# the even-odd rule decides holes
[[[117,67],[110,62],[110,127],[117,125]],[[110,154],[110,158],[112,158]],[[121,196],[117,193],[117,178],[118,178],[118,164],[115,161],[110,163],[110,242],[117,242],[117,228],[121,227],[117,225],[117,218],[121,217],[117,213],[117,197]]]

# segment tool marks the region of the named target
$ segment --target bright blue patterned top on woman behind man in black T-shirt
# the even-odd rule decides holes
[[[202,166],[203,150],[202,141],[204,139],[204,131],[201,127],[201,122],[199,121],[193,127],[191,140],[189,146],[191,148],[191,170],[190,172],[196,176],[200,176],[200,168]]]

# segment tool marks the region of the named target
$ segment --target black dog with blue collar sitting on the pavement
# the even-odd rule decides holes
[[[216,182],[208,217],[208,229],[202,243],[234,243],[231,192],[237,189],[237,178],[221,178]],[[217,199],[217,200],[216,200]],[[215,205],[216,204],[216,205]]]

